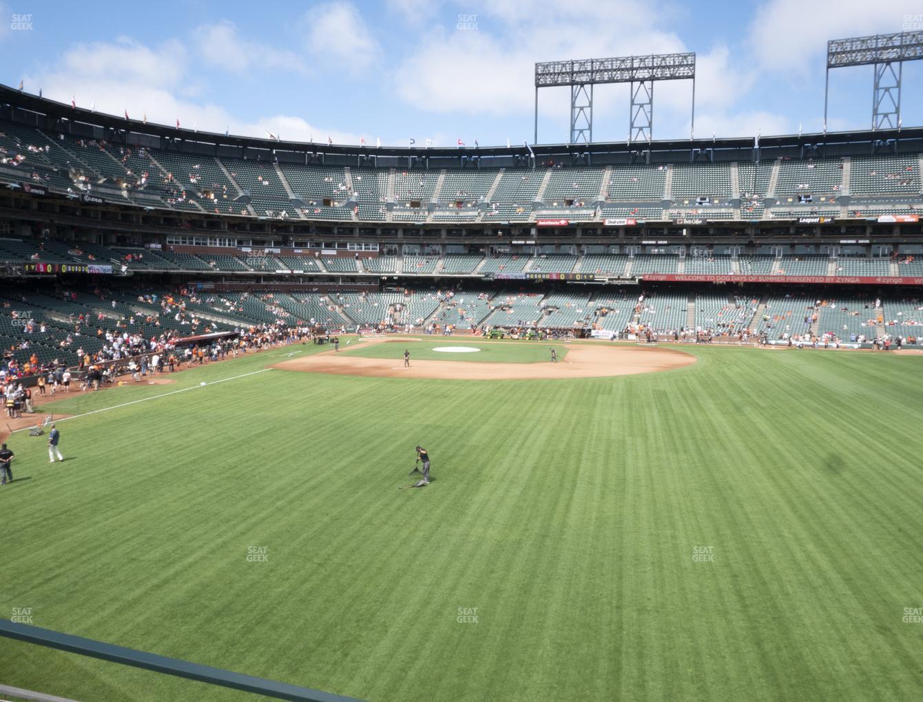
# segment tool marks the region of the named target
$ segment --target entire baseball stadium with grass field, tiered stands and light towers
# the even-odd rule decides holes
[[[694,51],[533,55],[502,146],[163,124],[0,70],[0,699],[919,699],[895,21],[824,39],[823,126],[781,135],[696,133]],[[870,128],[862,82],[828,130],[869,66]],[[685,137],[653,136],[662,81]]]

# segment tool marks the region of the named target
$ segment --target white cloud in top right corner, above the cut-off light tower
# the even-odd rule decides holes
[[[905,14],[920,12],[919,0],[769,0],[750,24],[749,43],[762,67],[807,74],[827,40],[901,31]]]

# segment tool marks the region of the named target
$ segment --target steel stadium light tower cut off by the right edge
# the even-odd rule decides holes
[[[901,77],[905,61],[923,59],[923,31],[900,31],[869,37],[832,39],[827,42],[827,79],[823,89],[823,131],[827,131],[830,69],[873,65],[871,128],[896,129],[901,125]]]

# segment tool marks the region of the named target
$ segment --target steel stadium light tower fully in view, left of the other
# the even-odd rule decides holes
[[[538,89],[569,86],[570,143],[593,141],[593,86],[630,83],[629,142],[653,138],[653,82],[692,80],[692,128],[695,127],[695,54],[650,54],[588,58],[535,64],[535,137],[538,143]]]

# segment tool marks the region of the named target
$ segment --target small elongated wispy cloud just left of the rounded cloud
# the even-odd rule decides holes
[[[222,20],[218,24],[202,25],[193,32],[198,53],[205,62],[232,73],[245,73],[248,69],[282,68],[306,73],[303,59],[291,51],[275,49],[244,39],[234,22]]]

